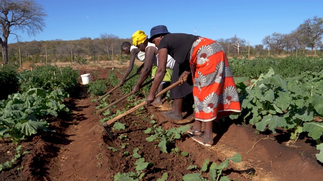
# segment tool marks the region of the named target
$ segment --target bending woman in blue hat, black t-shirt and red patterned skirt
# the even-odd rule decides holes
[[[211,146],[212,122],[241,111],[238,92],[224,49],[216,41],[207,38],[170,33],[164,25],[150,30],[149,42],[158,47],[158,68],[146,103],[149,105],[153,101],[156,88],[165,76],[168,54],[179,65],[189,64],[179,77],[185,82],[187,80],[183,78],[184,75],[192,73],[194,83],[195,122],[187,132],[194,141]],[[204,132],[201,130],[202,122]]]

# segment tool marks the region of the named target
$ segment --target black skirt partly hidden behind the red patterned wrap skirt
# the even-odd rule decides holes
[[[190,66],[189,62],[187,63],[185,62],[182,64],[178,64],[177,62],[175,62],[171,84],[178,81],[181,74],[187,69],[188,66]],[[192,80],[192,74],[189,74],[187,77],[187,81],[185,83],[171,89],[170,99],[173,100],[173,99],[184,98],[185,96],[189,95],[192,92],[193,92],[193,80]]]

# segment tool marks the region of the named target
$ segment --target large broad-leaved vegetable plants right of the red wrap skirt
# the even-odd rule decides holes
[[[259,131],[266,129],[276,133],[282,128],[291,131],[290,144],[294,144],[302,132],[317,142],[320,153],[316,158],[323,162],[323,122],[315,122],[314,116],[323,115],[323,71],[305,71],[299,76],[283,79],[271,68],[265,75],[252,79],[236,78],[240,92],[242,112],[230,116],[243,117],[245,122],[255,125]]]

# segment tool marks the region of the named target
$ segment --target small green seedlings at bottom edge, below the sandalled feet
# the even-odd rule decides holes
[[[229,161],[233,161],[235,163],[240,163],[241,162],[241,155],[239,153],[233,155],[231,158],[226,158],[225,161],[217,165],[216,162],[212,162],[212,164],[208,167],[209,165],[209,159],[206,159],[203,162],[203,165],[201,169],[197,169],[196,165],[190,165],[187,169],[197,169],[199,173],[189,173],[183,176],[184,181],[188,180],[203,180],[206,181],[208,180],[207,178],[202,177],[202,173],[205,172],[207,169],[209,169],[209,178],[210,181],[218,181],[220,178],[221,181],[227,181],[229,179],[228,176],[223,176],[222,171],[226,169],[229,166]]]

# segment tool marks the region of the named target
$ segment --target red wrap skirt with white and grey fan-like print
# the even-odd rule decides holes
[[[195,119],[212,121],[240,112],[238,92],[222,46],[206,38],[191,49]]]

